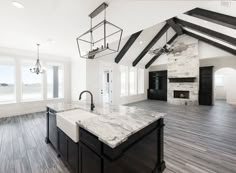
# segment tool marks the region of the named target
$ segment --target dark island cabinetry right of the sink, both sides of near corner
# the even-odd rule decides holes
[[[163,159],[163,119],[114,149],[80,128],[80,173],[161,173]]]

